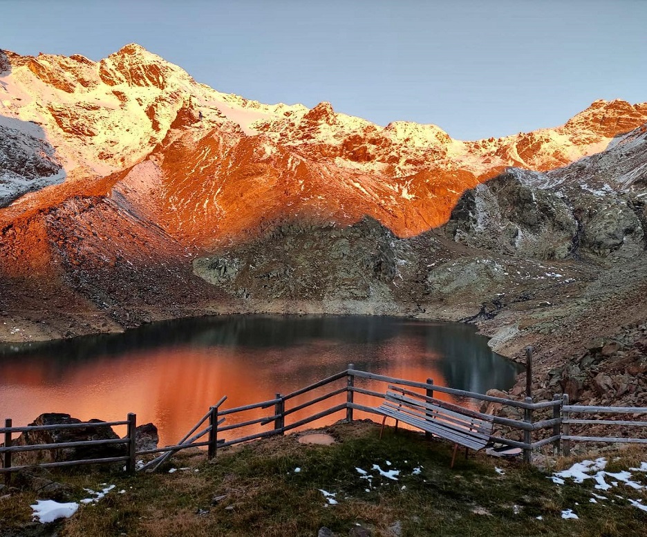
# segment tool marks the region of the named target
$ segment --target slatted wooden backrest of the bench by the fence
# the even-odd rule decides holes
[[[482,415],[469,408],[446,403],[399,386],[388,386],[384,406],[403,414],[402,421],[420,420],[451,431],[452,435],[473,437],[485,445],[494,426],[494,417]]]

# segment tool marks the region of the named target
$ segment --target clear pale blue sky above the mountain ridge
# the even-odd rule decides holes
[[[647,0],[0,0],[0,48],[131,42],[218,91],[463,140],[647,101]]]

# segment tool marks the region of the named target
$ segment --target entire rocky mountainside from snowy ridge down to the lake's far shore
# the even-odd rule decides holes
[[[135,44],[0,51],[0,340],[406,314],[533,343],[547,374],[647,315],[646,156],[647,103],[465,142],[220,93]]]

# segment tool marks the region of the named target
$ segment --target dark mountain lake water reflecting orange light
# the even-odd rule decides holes
[[[134,412],[138,424],[158,426],[160,445],[173,444],[223,395],[227,401],[222,408],[261,402],[338,373],[349,363],[371,373],[423,382],[432,378],[441,386],[478,393],[511,387],[521,370],[491,352],[473,327],[460,323],[395,317],[202,317],[117,335],[0,345],[0,418],[11,417],[17,426],[45,412],[106,421],[124,420]],[[458,402],[475,407],[469,400]],[[293,420],[327,406],[330,402],[301,411]],[[240,420],[271,411],[248,413]],[[332,415],[319,425],[342,417]],[[230,417],[225,425],[235,420]]]

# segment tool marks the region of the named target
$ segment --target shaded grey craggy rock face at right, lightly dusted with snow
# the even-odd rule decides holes
[[[647,138],[639,142],[647,148]],[[561,179],[573,168],[579,184]],[[599,169],[580,162],[546,174],[514,169],[463,194],[442,229],[470,247],[539,259],[636,255],[645,248],[642,168],[619,191],[609,182],[592,189]]]

